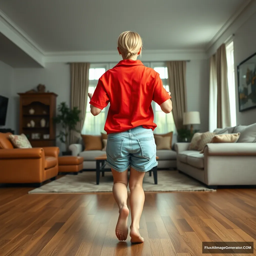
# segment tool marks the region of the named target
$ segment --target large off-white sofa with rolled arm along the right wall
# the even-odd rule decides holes
[[[216,134],[238,133],[236,143],[209,143],[204,154],[177,143],[177,169],[210,188],[223,185],[256,185],[256,123],[216,129]]]

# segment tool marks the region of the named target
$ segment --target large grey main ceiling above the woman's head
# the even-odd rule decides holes
[[[43,51],[114,50],[137,31],[147,50],[205,49],[243,0],[0,0]]]

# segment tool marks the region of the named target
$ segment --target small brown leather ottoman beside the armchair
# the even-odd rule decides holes
[[[73,173],[77,175],[83,169],[83,157],[59,156],[59,173]]]

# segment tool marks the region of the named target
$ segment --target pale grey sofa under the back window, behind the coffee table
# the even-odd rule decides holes
[[[92,150],[83,151],[82,144],[71,144],[69,150],[72,152],[73,156],[81,156],[84,159],[83,168],[87,170],[96,169],[95,157],[103,155],[105,151]],[[173,150],[157,150],[156,155],[159,157],[158,169],[176,169],[176,152]]]

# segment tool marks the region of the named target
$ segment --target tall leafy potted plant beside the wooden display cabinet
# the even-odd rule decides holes
[[[54,119],[57,124],[60,124],[62,129],[59,132],[57,138],[60,139],[62,143],[66,146],[66,151],[62,152],[62,155],[71,155],[71,151],[69,151],[68,147],[71,144],[71,131],[77,131],[76,125],[80,121],[80,113],[77,107],[70,109],[66,102],[61,102],[58,106],[59,114],[57,114]],[[80,132],[80,131],[77,131]]]

